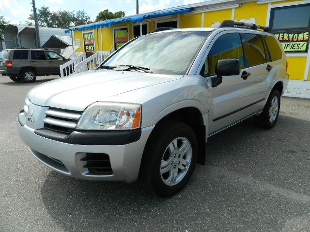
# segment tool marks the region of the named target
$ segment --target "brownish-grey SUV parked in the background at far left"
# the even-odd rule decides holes
[[[59,66],[67,62],[58,53],[46,49],[7,49],[0,55],[0,74],[12,81],[34,82],[37,75],[59,75]]]

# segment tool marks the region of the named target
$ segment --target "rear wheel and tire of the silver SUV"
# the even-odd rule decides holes
[[[264,129],[271,129],[275,126],[280,111],[280,93],[277,89],[273,89],[263,108],[261,115],[255,117],[257,126]]]

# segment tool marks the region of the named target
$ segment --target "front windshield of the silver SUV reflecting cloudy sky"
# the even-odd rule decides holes
[[[121,48],[104,66],[133,65],[153,73],[185,74],[209,34],[171,31],[142,36]]]

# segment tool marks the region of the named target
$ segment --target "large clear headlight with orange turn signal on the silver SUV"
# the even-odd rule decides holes
[[[141,106],[130,103],[95,102],[78,120],[78,130],[132,130],[140,128]]]

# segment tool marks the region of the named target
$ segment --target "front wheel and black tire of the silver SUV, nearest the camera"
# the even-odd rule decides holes
[[[161,197],[185,187],[197,160],[195,132],[186,124],[166,121],[157,125],[143,152],[140,179]]]

